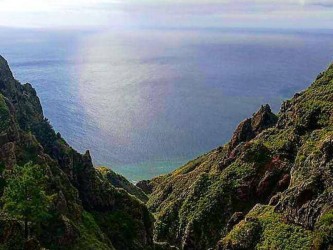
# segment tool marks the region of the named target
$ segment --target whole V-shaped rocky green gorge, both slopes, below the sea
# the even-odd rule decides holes
[[[0,249],[333,249],[333,65],[279,113],[263,105],[227,144],[133,185],[56,133],[0,57],[0,173]]]

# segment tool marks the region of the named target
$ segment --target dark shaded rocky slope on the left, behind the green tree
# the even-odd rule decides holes
[[[6,173],[28,162],[47,169],[52,216],[25,241],[20,221],[1,213],[1,249],[155,248],[151,214],[124,188],[145,195],[112,171],[96,170],[88,151],[79,154],[56,134],[35,90],[16,81],[0,57],[0,195]]]

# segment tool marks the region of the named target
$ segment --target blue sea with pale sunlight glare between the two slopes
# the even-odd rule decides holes
[[[331,31],[0,29],[0,54],[96,166],[152,178],[226,143],[261,104],[311,84]]]

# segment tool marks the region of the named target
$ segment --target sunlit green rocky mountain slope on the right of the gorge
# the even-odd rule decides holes
[[[155,239],[182,249],[333,249],[333,65],[277,116],[261,107],[225,146],[138,186]]]

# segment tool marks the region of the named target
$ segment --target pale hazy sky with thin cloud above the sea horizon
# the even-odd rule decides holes
[[[333,0],[0,0],[0,25],[333,28]]]

